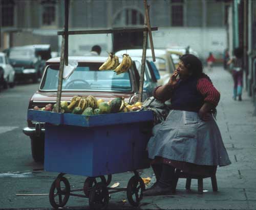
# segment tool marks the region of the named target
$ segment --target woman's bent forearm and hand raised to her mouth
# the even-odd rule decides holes
[[[166,101],[172,97],[172,92],[174,89],[174,86],[177,84],[176,77],[178,76],[178,72],[175,71],[172,76],[170,76],[170,79],[166,85],[159,86],[154,91],[154,97],[161,101]]]

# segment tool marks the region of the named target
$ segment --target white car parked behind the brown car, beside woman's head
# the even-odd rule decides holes
[[[134,57],[142,58],[142,49],[127,49],[116,52],[117,56],[121,56],[123,54],[129,54],[132,59]],[[160,78],[157,82],[158,85],[163,85],[168,82],[170,74],[172,74],[175,70],[175,65],[169,52],[165,49],[155,49],[155,57],[155,65],[160,73]],[[146,59],[148,61],[153,60],[151,49],[146,50]]]

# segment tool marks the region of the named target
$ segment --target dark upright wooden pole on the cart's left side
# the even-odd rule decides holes
[[[68,32],[68,24],[66,24],[69,20],[69,1],[65,0],[65,24],[64,31]],[[56,99],[56,109],[57,112],[60,112],[60,100],[61,100],[61,91],[62,91],[62,81],[63,81],[63,71],[64,71],[64,63],[67,61],[68,64],[68,44],[66,37],[68,34],[62,35],[61,41],[61,49],[60,49],[60,63],[59,63],[59,78],[58,78],[58,90],[57,90],[57,99]]]

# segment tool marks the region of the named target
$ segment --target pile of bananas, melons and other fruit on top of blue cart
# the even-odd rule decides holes
[[[94,96],[88,97],[74,96],[71,98],[70,103],[68,101],[60,102],[61,113],[72,113],[81,115],[98,115],[117,112],[133,112],[142,109],[143,103],[136,102],[135,104],[129,104],[124,102],[123,97],[114,98],[108,102],[103,99],[96,99]],[[47,104],[45,108],[34,107],[34,110],[53,111],[56,110],[56,103]]]

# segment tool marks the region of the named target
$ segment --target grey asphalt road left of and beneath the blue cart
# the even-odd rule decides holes
[[[0,92],[0,208],[52,208],[48,195],[17,196],[17,194],[48,194],[57,173],[45,172],[44,165],[35,163],[31,155],[30,139],[23,134],[27,126],[29,99],[39,84],[19,84]],[[143,177],[152,176],[151,169],[140,171]],[[125,172],[113,175],[111,185],[119,182],[126,187],[134,174]],[[71,189],[82,189],[86,177],[65,175]],[[110,185],[110,186],[111,186]],[[109,208],[132,208],[126,192],[111,195]],[[70,197],[69,208],[88,208],[88,199]]]

